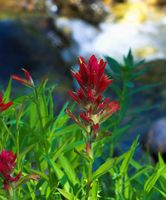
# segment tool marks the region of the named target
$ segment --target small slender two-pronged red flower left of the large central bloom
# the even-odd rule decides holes
[[[24,68],[22,68],[22,70],[25,74],[25,78],[21,78],[20,76],[17,76],[17,75],[12,75],[12,79],[16,80],[28,87],[34,87],[34,82],[33,82],[33,79],[31,77],[30,73]]]

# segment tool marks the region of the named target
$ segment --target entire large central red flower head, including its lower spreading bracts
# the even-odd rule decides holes
[[[103,59],[98,61],[92,55],[89,62],[86,63],[84,58],[80,57],[79,66],[78,72],[72,71],[71,73],[80,88],[76,92],[69,92],[69,94],[83,111],[79,118],[76,118],[68,109],[67,113],[76,123],[84,127],[88,135],[95,138],[100,124],[119,110],[120,106],[116,101],[110,101],[109,98],[104,99],[102,96],[112,82],[104,74],[106,62]]]

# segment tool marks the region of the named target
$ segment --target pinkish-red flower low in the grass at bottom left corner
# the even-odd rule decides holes
[[[0,175],[3,178],[4,189],[10,189],[10,183],[17,182],[21,177],[21,172],[16,176],[11,176],[16,165],[16,154],[11,151],[2,150],[0,153]]]

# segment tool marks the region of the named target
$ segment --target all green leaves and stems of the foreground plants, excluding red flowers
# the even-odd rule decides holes
[[[110,57],[106,59],[121,110],[104,123],[92,145],[93,158],[85,152],[86,141],[81,129],[71,123],[65,112],[68,103],[55,114],[54,87],[49,87],[47,80],[28,95],[14,99],[14,105],[0,113],[0,150],[16,152],[14,173],[22,171],[11,194],[3,189],[0,180],[0,199],[166,199],[166,164],[160,154],[156,165],[135,160],[138,138],[120,156],[113,157],[111,151],[131,127],[134,111],[137,115],[143,111],[133,108],[133,112],[131,109],[128,112],[133,96],[157,84],[137,87],[136,81],[146,69],[140,68],[144,61],[134,62],[131,50],[124,57],[124,64]],[[10,100],[11,90],[10,80],[4,93],[5,101]],[[131,118],[122,126],[127,115]],[[98,162],[98,157],[102,162]]]

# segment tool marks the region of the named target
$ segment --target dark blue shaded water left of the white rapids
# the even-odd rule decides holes
[[[60,53],[61,49],[53,47],[46,38],[50,30],[50,21],[48,20],[48,26],[35,22],[38,23],[36,29],[35,24],[29,27],[28,24],[16,21],[0,22],[1,82],[6,83],[13,73],[22,73],[20,72],[22,67],[30,70],[36,78],[49,76],[52,73],[58,79],[66,76],[66,64]]]

